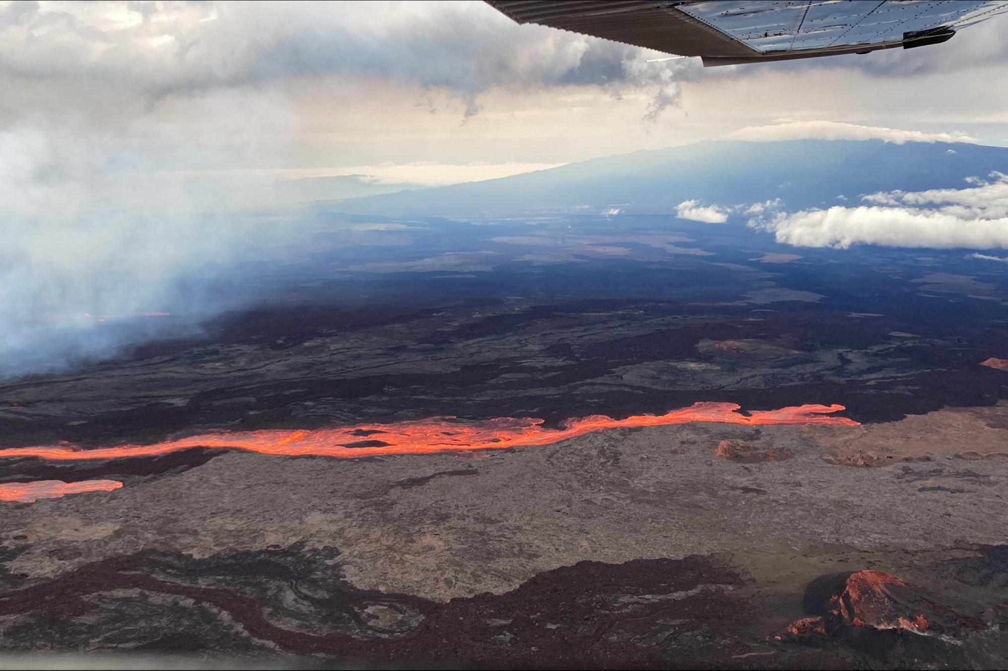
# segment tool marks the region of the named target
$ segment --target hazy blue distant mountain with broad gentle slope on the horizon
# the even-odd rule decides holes
[[[953,187],[1008,172],[1008,148],[887,144],[881,140],[716,141],[636,151],[500,179],[343,200],[350,214],[513,215],[622,207],[667,213],[679,203],[749,204],[779,197],[789,209],[857,202],[880,190]]]

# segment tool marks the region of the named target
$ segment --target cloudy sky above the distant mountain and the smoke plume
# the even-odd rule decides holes
[[[1006,22],[705,70],[483,2],[3,2],[0,124],[131,172],[239,181],[440,184],[703,139],[859,136],[833,123],[1005,145]]]

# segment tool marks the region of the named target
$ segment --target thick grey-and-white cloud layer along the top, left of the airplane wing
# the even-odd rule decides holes
[[[499,86],[652,87],[654,116],[676,104],[675,74],[699,65],[646,63],[653,53],[518,25],[475,1],[0,5],[0,76],[105,83],[154,99],[344,75],[454,92],[466,116]]]

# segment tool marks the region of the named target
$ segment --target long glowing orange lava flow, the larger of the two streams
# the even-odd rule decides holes
[[[459,422],[435,417],[392,424],[359,424],[313,431],[276,429],[205,433],[150,445],[119,445],[82,449],[71,444],[10,447],[0,457],[34,456],[54,460],[115,459],[155,456],[191,447],[229,447],[263,454],[319,455],[338,458],[389,454],[430,454],[454,450],[502,449],[515,445],[548,445],[568,438],[610,428],[667,426],[686,422],[730,424],[840,424],[856,425],[846,417],[832,417],[842,405],[800,405],[780,410],[755,410],[748,416],[736,412],[734,403],[695,403],[664,415],[634,415],[613,419],[591,415],[568,420],[563,428],[542,427],[541,419],[498,417],[479,422]]]

